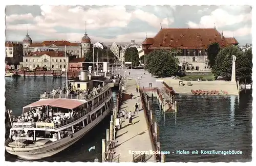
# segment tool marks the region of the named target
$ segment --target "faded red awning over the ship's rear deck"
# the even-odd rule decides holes
[[[23,108],[50,105],[54,107],[74,109],[82,105],[83,103],[85,103],[85,101],[79,101],[79,100],[73,100],[73,99],[61,99],[61,98],[60,99],[44,99],[44,100],[38,100],[36,102],[33,102],[27,106],[24,106]]]

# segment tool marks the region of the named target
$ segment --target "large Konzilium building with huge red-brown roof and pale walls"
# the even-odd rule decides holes
[[[217,42],[221,48],[238,45],[238,41],[224,37],[214,29],[161,29],[154,38],[146,38],[142,43],[144,54],[155,49],[181,49],[177,56],[179,68],[189,72],[209,72],[207,47]]]

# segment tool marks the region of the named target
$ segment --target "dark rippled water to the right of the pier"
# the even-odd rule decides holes
[[[251,91],[242,92],[240,96],[179,95],[176,99],[176,118],[173,113],[164,116],[159,111],[157,99],[153,100],[160,149],[171,152],[166,155],[166,162],[251,161]],[[176,154],[177,150],[190,151],[190,154]],[[195,150],[199,154],[191,154]],[[201,150],[240,150],[242,154],[200,154]]]

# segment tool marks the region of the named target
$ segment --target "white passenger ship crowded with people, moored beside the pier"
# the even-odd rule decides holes
[[[23,107],[23,117],[12,122],[5,141],[8,153],[25,160],[50,157],[77,142],[110,113],[113,84],[105,77],[88,76],[87,71],[80,76],[70,81],[79,94],[43,94]]]

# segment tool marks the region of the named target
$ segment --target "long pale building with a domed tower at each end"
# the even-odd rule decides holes
[[[91,39],[88,37],[87,33],[81,39],[79,43],[72,43],[66,40],[60,41],[42,41],[41,43],[33,43],[30,36],[26,35],[23,40],[23,54],[26,56],[31,52],[37,51],[65,51],[65,46],[67,52],[71,56],[75,56],[77,58],[82,58],[86,56],[86,53],[92,50]]]

